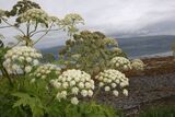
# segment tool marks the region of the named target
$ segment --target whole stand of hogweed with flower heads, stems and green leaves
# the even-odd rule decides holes
[[[2,117],[116,117],[114,108],[96,103],[98,92],[128,96],[129,80],[122,71],[143,69],[141,60],[127,58],[115,38],[78,32],[83,19],[75,13],[58,19],[33,1],[20,0],[12,10],[0,10],[0,24],[1,30],[13,27],[21,33],[16,45],[0,47]],[[39,63],[43,55],[33,46],[49,32],[61,30],[70,37],[59,52],[62,68]]]

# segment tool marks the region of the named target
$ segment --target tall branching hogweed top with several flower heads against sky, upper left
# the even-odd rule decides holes
[[[83,23],[84,20],[75,13],[67,14],[63,19],[51,16],[39,4],[30,0],[18,1],[10,11],[0,10],[0,28],[13,27],[20,32],[15,36],[16,45],[34,46],[48,33],[56,31],[73,35],[79,31],[77,25]]]

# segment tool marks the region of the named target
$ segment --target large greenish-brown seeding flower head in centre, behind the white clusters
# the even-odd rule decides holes
[[[83,31],[66,42],[66,47],[60,51],[62,59],[67,60],[68,68],[84,70],[91,74],[106,69],[109,60],[124,52],[115,51],[118,47],[114,38],[107,38],[100,32]]]

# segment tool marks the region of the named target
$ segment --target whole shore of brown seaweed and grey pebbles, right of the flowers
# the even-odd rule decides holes
[[[116,98],[101,91],[97,101],[122,108],[127,115],[135,115],[148,105],[175,104],[174,57],[144,58],[142,60],[147,65],[144,71],[126,73],[130,79],[128,97]]]

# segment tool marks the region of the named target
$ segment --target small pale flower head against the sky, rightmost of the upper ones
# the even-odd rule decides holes
[[[83,23],[84,20],[79,14],[70,13],[70,14],[67,14],[62,21],[66,25],[70,25],[72,24],[72,22]]]

